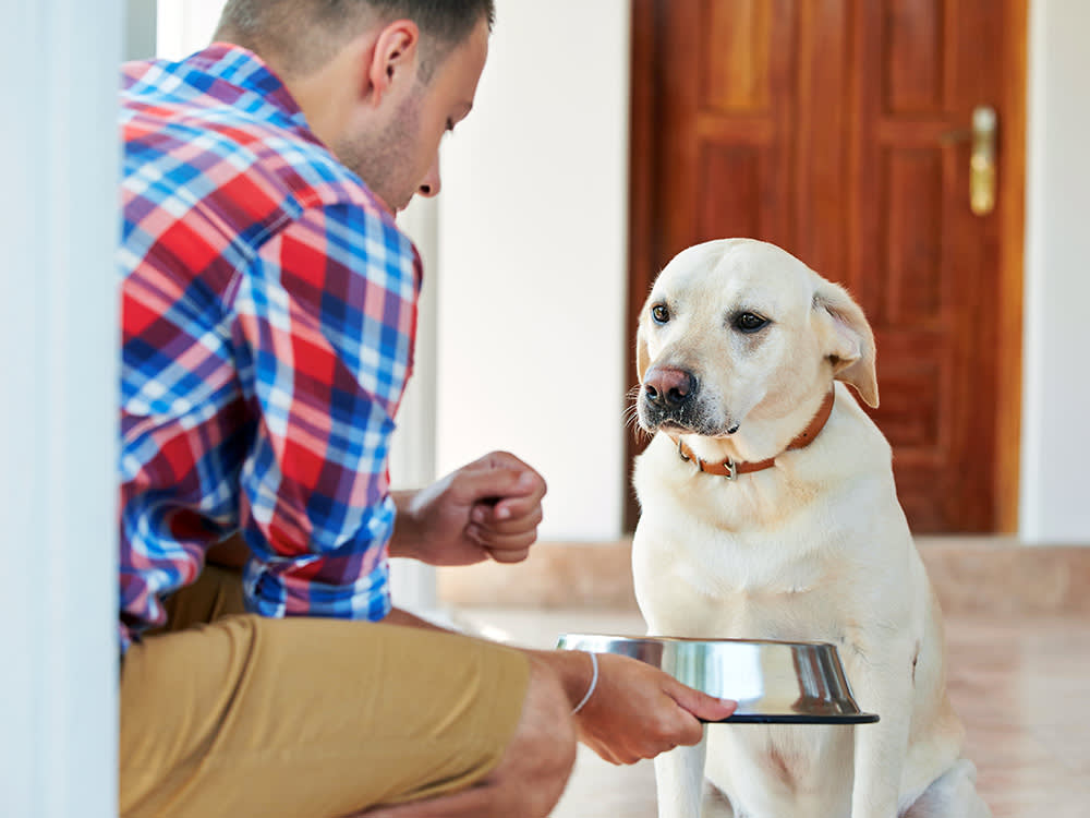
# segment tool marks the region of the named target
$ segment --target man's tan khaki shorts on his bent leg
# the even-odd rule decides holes
[[[124,818],[319,818],[457,791],[499,762],[529,664],[463,636],[239,614],[208,567],[121,671]]]

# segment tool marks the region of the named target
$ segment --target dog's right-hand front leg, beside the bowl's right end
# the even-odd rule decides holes
[[[852,681],[863,710],[877,713],[876,724],[855,727],[855,784],[851,818],[896,818],[901,769],[908,753],[912,682],[910,660],[884,655]],[[905,664],[904,667],[900,665]]]

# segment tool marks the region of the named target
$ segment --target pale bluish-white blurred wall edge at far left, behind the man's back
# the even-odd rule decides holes
[[[117,815],[120,0],[0,26],[0,815]]]

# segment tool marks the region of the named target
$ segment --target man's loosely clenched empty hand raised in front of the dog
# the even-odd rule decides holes
[[[414,493],[395,494],[390,556],[432,565],[526,558],[542,521],[545,480],[514,455],[493,452]]]

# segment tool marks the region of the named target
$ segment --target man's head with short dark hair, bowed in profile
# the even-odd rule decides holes
[[[494,0],[228,0],[216,39],[262,57],[397,210],[439,192],[439,142],[473,105],[494,15]]]

